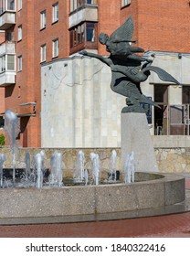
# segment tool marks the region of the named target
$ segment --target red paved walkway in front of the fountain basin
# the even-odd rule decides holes
[[[172,215],[79,223],[1,225],[0,238],[190,238],[190,174],[185,176],[186,209]]]

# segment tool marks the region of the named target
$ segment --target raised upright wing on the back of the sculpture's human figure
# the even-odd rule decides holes
[[[120,42],[120,41],[130,41],[132,40],[132,34],[133,34],[133,22],[132,17],[130,16],[125,23],[121,25],[121,27],[118,27],[110,36],[111,42]]]

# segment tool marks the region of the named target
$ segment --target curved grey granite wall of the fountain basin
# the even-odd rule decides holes
[[[185,200],[183,176],[137,173],[137,179],[131,184],[1,188],[0,218],[97,215],[160,208]]]

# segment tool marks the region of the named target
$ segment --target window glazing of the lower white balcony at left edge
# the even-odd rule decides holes
[[[15,55],[5,54],[0,57],[0,73],[5,71],[15,71]]]

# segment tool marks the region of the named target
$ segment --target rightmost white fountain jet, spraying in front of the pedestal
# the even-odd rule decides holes
[[[126,156],[126,161],[124,165],[124,182],[131,183],[134,182],[134,153]]]

